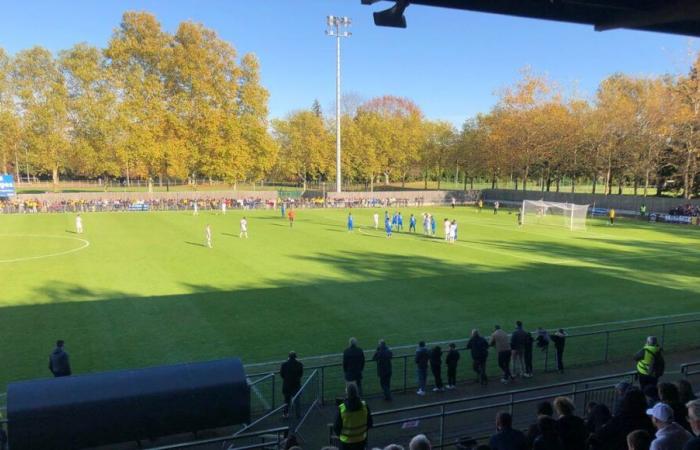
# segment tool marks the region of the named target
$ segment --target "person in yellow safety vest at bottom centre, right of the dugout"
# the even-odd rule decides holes
[[[348,383],[346,398],[338,406],[333,431],[340,439],[340,450],[364,450],[367,430],[372,428],[372,414],[355,383]]]

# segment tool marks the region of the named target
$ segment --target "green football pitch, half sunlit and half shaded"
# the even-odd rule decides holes
[[[386,239],[375,210],[0,216],[0,391],[49,375],[65,339],[75,373],[241,356],[246,363],[453,339],[523,320],[572,327],[697,312],[700,229],[589,221],[526,226],[472,208],[402,209]],[[377,209],[383,217],[383,209]],[[438,236],[408,234],[435,214]],[[390,211],[391,212],[391,211]],[[246,215],[249,239],[239,239]],[[442,240],[457,219],[459,241]],[[381,219],[380,219],[381,222]],[[211,224],[213,248],[204,245]],[[381,224],[380,224],[381,226]]]

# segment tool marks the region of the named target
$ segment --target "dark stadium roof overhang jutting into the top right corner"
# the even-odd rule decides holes
[[[371,5],[382,0],[361,0]],[[593,25],[596,31],[632,29],[700,36],[700,0],[390,0],[374,23],[406,27],[409,4]]]

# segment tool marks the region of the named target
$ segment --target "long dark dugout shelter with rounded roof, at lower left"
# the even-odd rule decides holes
[[[12,383],[13,450],[77,450],[250,421],[241,361],[177,364]]]

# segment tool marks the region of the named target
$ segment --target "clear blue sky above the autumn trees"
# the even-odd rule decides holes
[[[488,111],[496,93],[531,66],[563,87],[593,95],[615,72],[681,73],[695,41],[648,32],[519,19],[412,5],[405,30],[379,28],[360,0],[170,0],[8,2],[0,16],[0,46],[10,53],[34,45],[52,51],[77,42],[104,47],[126,10],[154,13],[174,31],[183,20],[216,30],[242,54],[254,52],[270,91],[272,117],[307,108],[318,98],[332,109],[335,41],[325,16],[353,20],[342,42],[343,90],[364,98],[413,99],[426,116],[461,124]],[[330,112],[330,111],[329,111]]]

